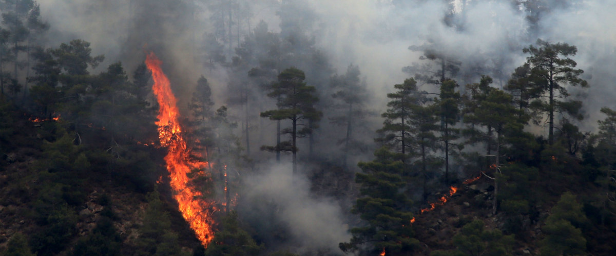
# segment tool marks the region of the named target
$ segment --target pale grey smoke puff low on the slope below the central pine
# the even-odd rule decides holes
[[[305,177],[293,177],[290,165],[272,164],[262,174],[245,177],[240,215],[259,230],[267,247],[301,253],[339,254],[348,225],[333,198],[315,198]]]

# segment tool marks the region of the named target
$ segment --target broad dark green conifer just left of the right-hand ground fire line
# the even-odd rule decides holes
[[[359,163],[363,173],[357,174],[362,196],[352,208],[354,214],[367,222],[365,227],[351,229],[353,237],[341,242],[342,251],[362,250],[378,254],[383,248],[389,254],[400,254],[414,250],[419,241],[413,238],[410,220],[411,200],[403,193],[406,182],[400,174],[400,161],[371,161]]]

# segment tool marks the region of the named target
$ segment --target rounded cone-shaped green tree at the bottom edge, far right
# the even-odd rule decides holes
[[[541,240],[541,255],[586,255],[586,238],[582,235],[582,228],[588,225],[588,219],[582,208],[575,195],[569,192],[562,194],[543,226],[546,236]]]

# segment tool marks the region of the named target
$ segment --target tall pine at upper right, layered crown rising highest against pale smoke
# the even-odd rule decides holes
[[[566,85],[588,87],[588,82],[580,79],[584,71],[573,69],[577,66],[575,61],[567,56],[575,55],[577,47],[566,43],[550,44],[546,41],[537,40],[538,46],[530,45],[524,48],[524,53],[530,53],[526,63],[530,64],[530,87],[539,91],[538,99],[530,104],[530,107],[540,112],[548,113],[548,141],[554,144],[554,112],[567,113],[577,119],[583,116],[578,113],[582,107],[581,101],[563,101],[569,96]]]

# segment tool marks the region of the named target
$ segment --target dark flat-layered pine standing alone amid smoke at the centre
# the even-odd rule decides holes
[[[321,119],[322,112],[315,109],[314,104],[318,98],[315,95],[315,87],[306,85],[304,71],[297,68],[288,68],[280,72],[278,82],[272,83],[267,96],[277,98],[278,109],[261,112],[261,117],[268,117],[270,120],[291,120],[291,127],[283,129],[280,133],[290,134],[290,141],[278,142],[274,146],[264,145],[261,150],[270,152],[291,152],[293,153],[293,174],[297,173],[297,138],[305,137],[312,133],[314,124]],[[302,126],[301,129],[298,129]]]

